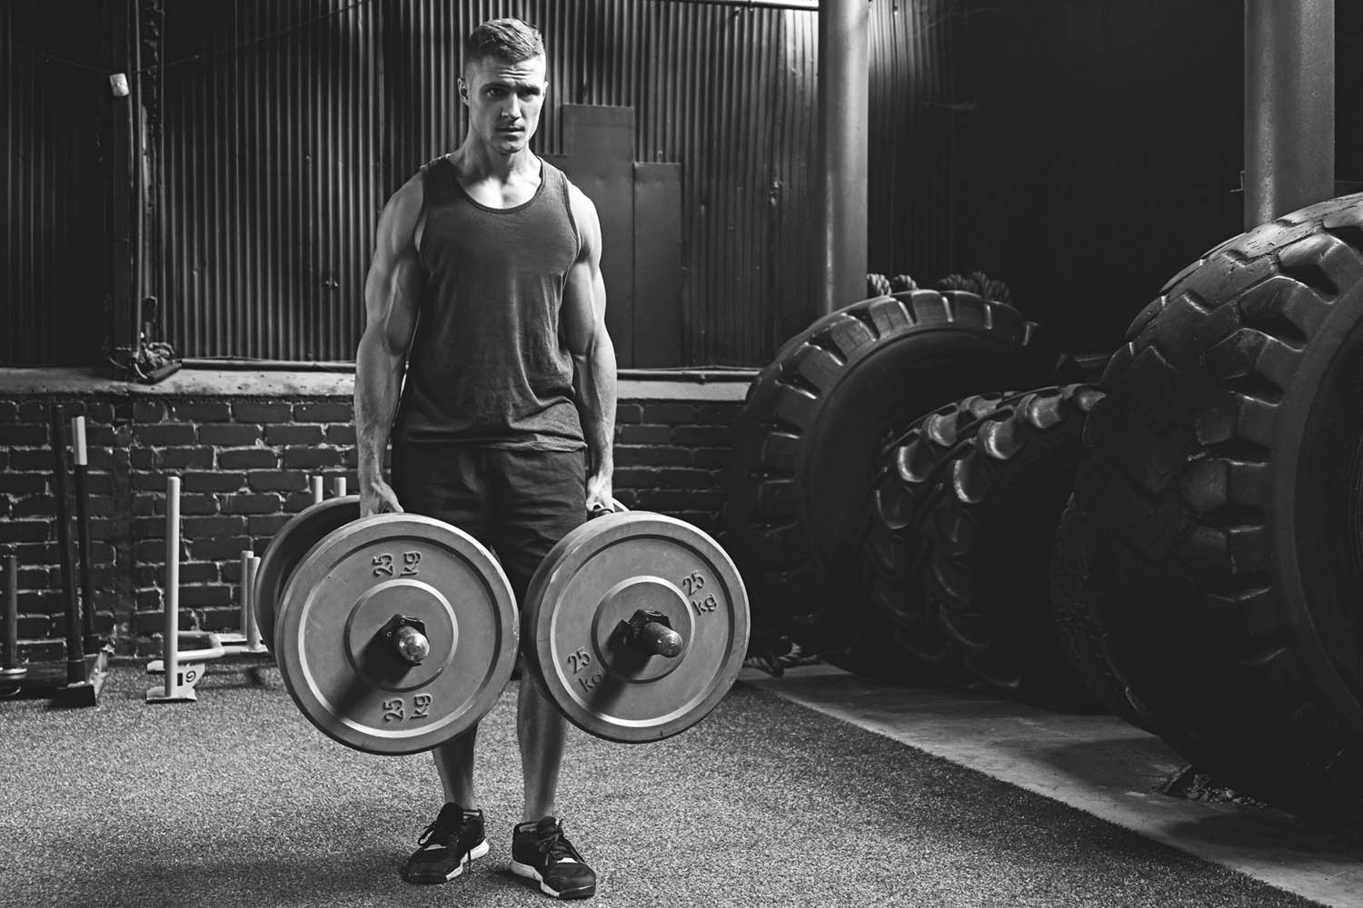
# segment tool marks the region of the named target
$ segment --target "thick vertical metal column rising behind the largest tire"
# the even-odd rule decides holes
[[[1334,0],[1244,0],[1244,227],[1334,196]]]

